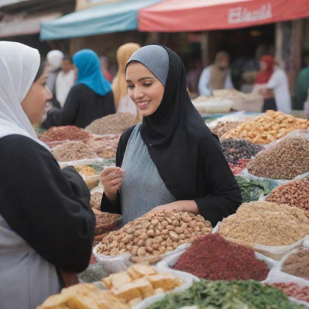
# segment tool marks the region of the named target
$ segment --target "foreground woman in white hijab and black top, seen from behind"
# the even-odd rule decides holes
[[[95,218],[83,179],[32,128],[51,99],[38,50],[0,41],[0,72],[0,308],[33,309],[64,286],[58,271],[87,267]]]

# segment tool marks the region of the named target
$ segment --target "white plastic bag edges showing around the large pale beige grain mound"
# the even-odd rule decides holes
[[[219,226],[221,222],[218,222],[218,224],[214,227],[212,233],[218,233],[219,232]],[[252,246],[252,250],[255,252],[260,252],[264,256],[270,257],[273,260],[281,260],[283,256],[285,256],[287,253],[289,253],[291,250],[295,248],[299,248],[303,245],[303,242],[306,238],[298,240],[296,243],[293,243],[288,246],[265,246],[261,244],[254,244]]]

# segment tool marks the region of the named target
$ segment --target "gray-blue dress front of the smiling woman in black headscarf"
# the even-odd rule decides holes
[[[129,138],[121,165],[125,170],[120,187],[123,224],[141,217],[156,206],[176,201],[165,187],[139,131],[140,124]]]

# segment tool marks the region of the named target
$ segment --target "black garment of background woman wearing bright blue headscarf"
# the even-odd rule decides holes
[[[62,109],[54,108],[47,113],[44,125],[76,125],[85,128],[97,118],[116,112],[113,93],[101,96],[84,84],[73,86]]]

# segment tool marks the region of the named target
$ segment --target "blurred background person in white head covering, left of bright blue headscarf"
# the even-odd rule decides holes
[[[64,54],[60,50],[51,50],[46,55],[46,69],[48,71],[47,87],[55,95],[55,83],[58,73],[61,71],[61,62]]]

